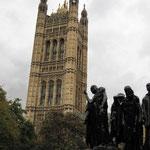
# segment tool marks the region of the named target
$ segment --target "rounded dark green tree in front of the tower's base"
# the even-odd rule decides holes
[[[85,149],[85,126],[72,113],[51,112],[40,131],[42,140],[36,150],[83,150]]]

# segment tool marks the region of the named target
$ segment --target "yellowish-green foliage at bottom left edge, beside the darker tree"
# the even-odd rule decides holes
[[[18,123],[12,115],[7,101],[0,101],[0,149],[15,149],[18,140]]]

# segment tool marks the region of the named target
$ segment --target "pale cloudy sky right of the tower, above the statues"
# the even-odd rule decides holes
[[[105,86],[111,102],[125,85],[133,87],[141,99],[146,92],[150,80],[149,4],[100,0],[90,5],[88,86]]]

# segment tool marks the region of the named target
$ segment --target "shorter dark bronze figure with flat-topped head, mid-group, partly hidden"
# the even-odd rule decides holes
[[[114,96],[114,102],[111,107],[111,137],[115,138],[116,146],[119,143],[124,142],[123,137],[123,101],[125,95],[119,93]]]

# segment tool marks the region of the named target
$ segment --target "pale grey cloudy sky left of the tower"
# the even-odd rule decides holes
[[[25,107],[36,19],[20,0],[1,1],[0,6],[0,84],[9,99],[20,97]]]

